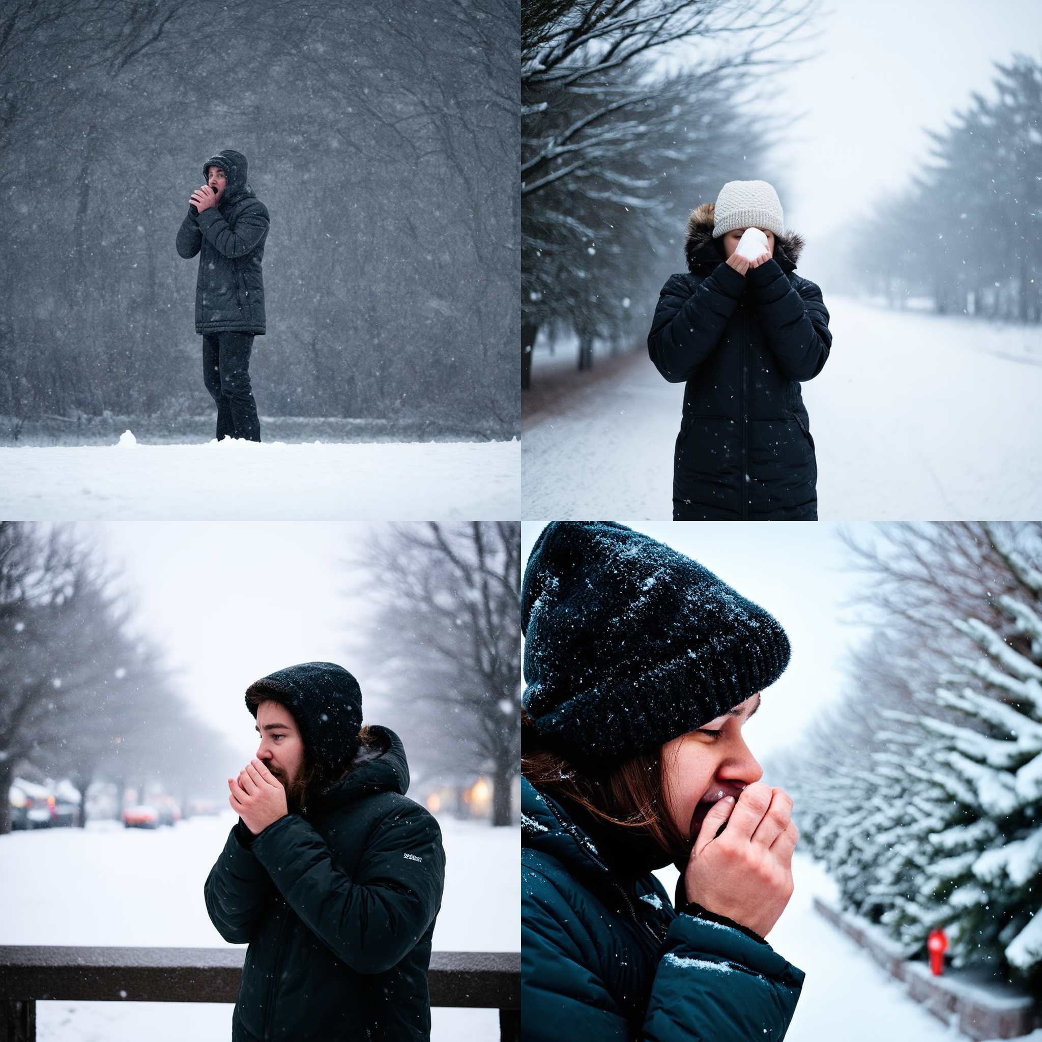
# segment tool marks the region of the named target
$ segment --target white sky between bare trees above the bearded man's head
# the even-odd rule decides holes
[[[365,524],[128,521],[80,525],[126,569],[137,622],[167,651],[176,683],[200,715],[243,752],[256,751],[244,693],[253,680],[298,662],[336,662],[358,679],[363,717],[380,720],[380,677],[351,662],[351,597],[341,562]]]

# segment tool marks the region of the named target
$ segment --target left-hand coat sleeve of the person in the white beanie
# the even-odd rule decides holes
[[[721,262],[693,294],[671,275],[659,295],[648,354],[670,383],[691,379],[712,354],[745,290],[745,276]]]

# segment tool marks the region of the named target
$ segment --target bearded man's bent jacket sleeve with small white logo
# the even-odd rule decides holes
[[[307,928],[357,973],[396,966],[441,907],[442,833],[419,804],[377,825],[353,877],[337,867],[326,841],[298,814],[269,825],[253,851]]]

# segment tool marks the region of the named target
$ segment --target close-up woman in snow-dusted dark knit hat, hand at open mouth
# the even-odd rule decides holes
[[[521,602],[522,1039],[780,1042],[804,973],[766,937],[799,833],[741,729],[785,630],[613,522],[547,525]]]

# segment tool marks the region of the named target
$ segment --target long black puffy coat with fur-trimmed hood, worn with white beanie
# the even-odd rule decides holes
[[[833,342],[821,290],[794,273],[802,239],[740,275],[713,239],[715,204],[688,220],[689,271],[662,289],[648,353],[686,381],[673,455],[674,521],[814,521],[818,465],[799,384]]]

